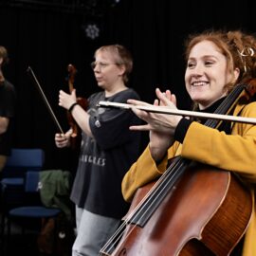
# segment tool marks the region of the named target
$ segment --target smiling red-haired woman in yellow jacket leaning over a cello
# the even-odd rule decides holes
[[[185,56],[186,89],[197,111],[213,113],[237,84],[256,78],[256,39],[240,30],[193,35],[186,44]],[[154,105],[176,109],[171,91],[156,89],[155,93]],[[150,105],[142,101],[128,102]],[[149,113],[136,108],[133,111],[146,124],[130,129],[150,131],[150,142],[124,176],[122,193],[125,200],[131,202],[138,188],[164,174],[168,160],[176,155],[235,172],[252,194],[252,214],[245,236],[230,255],[255,256],[256,125],[225,121],[216,129],[181,116]],[[229,114],[256,118],[256,102],[238,101]]]

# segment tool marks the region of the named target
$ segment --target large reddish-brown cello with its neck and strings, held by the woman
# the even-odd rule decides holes
[[[255,80],[238,84],[215,113],[229,114],[255,90]],[[221,123],[205,125],[220,129]],[[100,255],[226,256],[245,234],[251,212],[251,194],[236,174],[176,156],[158,180],[137,190]]]

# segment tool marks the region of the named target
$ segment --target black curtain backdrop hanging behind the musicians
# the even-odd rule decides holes
[[[113,1],[114,3],[115,1]],[[98,91],[90,63],[96,48],[108,44],[127,46],[134,56],[130,86],[143,101],[153,102],[155,87],[170,88],[178,107],[189,109],[185,91],[183,43],[190,33],[204,29],[243,29],[256,33],[255,1],[120,0],[105,5],[101,15],[52,9],[13,7],[0,3],[0,45],[9,50],[6,78],[17,90],[14,147],[40,147],[46,151],[46,169],[75,170],[77,151],[55,147],[58,129],[46,104],[27,75],[30,66],[57,119],[68,129],[66,111],[58,106],[59,90],[68,91],[67,64],[78,69],[78,96]],[[86,38],[82,26],[95,21],[101,28],[96,40]],[[141,148],[148,141],[142,141]]]

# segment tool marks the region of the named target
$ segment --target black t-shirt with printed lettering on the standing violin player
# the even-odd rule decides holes
[[[89,124],[94,137],[82,133],[78,171],[71,192],[72,201],[80,208],[104,216],[121,218],[129,205],[121,194],[121,180],[139,154],[140,134],[130,125],[140,123],[131,110],[101,108],[99,101],[126,103],[139,100],[129,88],[106,99],[104,92],[89,99]]]

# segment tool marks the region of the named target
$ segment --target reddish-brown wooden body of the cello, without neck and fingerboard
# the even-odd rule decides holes
[[[127,215],[154,183],[137,190]],[[190,167],[143,228],[127,224],[115,250],[101,255],[227,256],[245,234],[251,212],[251,194],[235,174]]]

